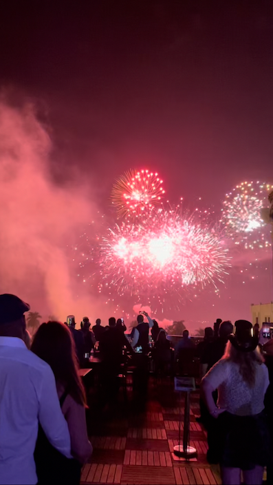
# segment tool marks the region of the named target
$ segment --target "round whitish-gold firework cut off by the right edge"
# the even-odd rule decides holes
[[[243,182],[226,194],[221,222],[226,226],[234,243],[245,249],[270,246],[265,234],[261,209],[267,205],[267,196],[273,185],[265,182]]]

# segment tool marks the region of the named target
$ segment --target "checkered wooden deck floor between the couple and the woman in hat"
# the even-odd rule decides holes
[[[120,396],[121,397],[121,396]],[[195,417],[199,395],[190,404],[190,444],[198,457],[184,462],[173,455],[178,440],[179,395],[173,380],[150,379],[144,402],[122,400],[102,411],[90,402],[88,428],[94,446],[91,462],[83,468],[83,484],[221,484],[219,471],[206,462],[206,435]]]

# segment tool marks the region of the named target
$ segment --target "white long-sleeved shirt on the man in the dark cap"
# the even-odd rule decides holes
[[[34,448],[39,422],[68,458],[70,437],[50,366],[23,340],[0,337],[0,484],[36,484]]]

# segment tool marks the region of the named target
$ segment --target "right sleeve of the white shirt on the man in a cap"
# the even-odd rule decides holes
[[[43,373],[39,396],[39,422],[52,446],[67,458],[72,458],[68,426],[61,411],[56,382],[50,367]]]

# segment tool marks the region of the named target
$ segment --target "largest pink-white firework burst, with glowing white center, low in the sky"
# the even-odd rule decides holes
[[[102,278],[122,295],[217,285],[229,258],[217,235],[176,211],[116,225],[102,242]]]

